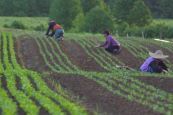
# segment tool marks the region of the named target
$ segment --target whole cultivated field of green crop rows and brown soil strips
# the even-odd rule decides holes
[[[172,43],[120,38],[122,52],[111,55],[95,48],[100,35],[67,33],[58,43],[41,32],[0,33],[0,114],[173,114]],[[157,49],[170,72],[139,72]]]

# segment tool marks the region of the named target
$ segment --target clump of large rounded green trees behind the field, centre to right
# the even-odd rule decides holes
[[[123,24],[145,26],[152,21],[143,0],[53,0],[49,17],[66,30],[94,33]]]

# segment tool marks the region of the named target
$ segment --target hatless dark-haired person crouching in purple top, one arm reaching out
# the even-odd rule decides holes
[[[119,53],[120,52],[120,43],[112,37],[112,35],[110,35],[109,31],[104,31],[103,32],[106,41],[96,47],[104,47],[106,51],[110,52],[110,53]]]

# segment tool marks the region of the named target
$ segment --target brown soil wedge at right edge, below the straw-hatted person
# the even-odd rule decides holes
[[[173,78],[140,77],[139,80],[169,93],[173,93]]]

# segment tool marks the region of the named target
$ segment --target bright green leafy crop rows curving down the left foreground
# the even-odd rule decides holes
[[[4,109],[3,106],[5,106],[5,104],[2,104],[1,108],[4,114],[16,114],[16,109],[19,109],[16,107],[17,104],[24,112],[32,115],[39,114],[41,108],[45,109],[50,114],[86,114],[83,108],[50,90],[41,78],[41,75],[20,67],[15,57],[11,34],[3,33],[1,41],[3,52],[3,56],[1,56],[3,58],[1,59],[3,60],[1,60],[0,66],[3,70],[2,74],[5,76],[10,94],[16,100],[11,100],[10,97],[6,99],[7,102],[10,102],[10,100],[12,101],[9,107],[12,108],[13,111]],[[16,78],[19,78],[20,81],[16,81]],[[33,80],[36,86],[33,85],[30,79]],[[21,84],[20,89],[16,87],[18,84]],[[6,91],[4,90],[4,92]],[[8,94],[6,93],[6,95]],[[5,96],[1,97],[4,98]]]

